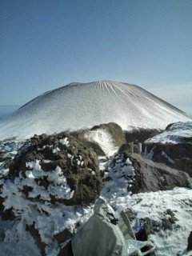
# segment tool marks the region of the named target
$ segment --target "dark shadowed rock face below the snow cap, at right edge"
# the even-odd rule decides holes
[[[146,143],[147,152],[153,151],[151,160],[166,164],[177,170],[183,170],[192,177],[192,144]]]

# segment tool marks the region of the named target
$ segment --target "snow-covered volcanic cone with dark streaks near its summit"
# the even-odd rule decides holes
[[[0,139],[79,130],[106,122],[131,127],[165,128],[191,121],[187,114],[139,86],[123,82],[71,83],[34,98],[0,121]]]

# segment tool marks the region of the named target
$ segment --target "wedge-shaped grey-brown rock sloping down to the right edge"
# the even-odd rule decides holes
[[[188,174],[181,170],[171,169],[167,166],[142,158],[139,154],[127,154],[134,166],[135,180],[132,186],[134,194],[158,190],[172,190],[174,187],[192,188],[192,180]]]

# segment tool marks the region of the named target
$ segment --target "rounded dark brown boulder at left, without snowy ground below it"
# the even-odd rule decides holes
[[[68,193],[67,196],[50,192],[50,202],[63,202],[68,206],[82,205],[94,202],[102,189],[98,164],[94,150],[86,148],[70,134],[61,133],[52,136],[42,134],[31,138],[18,152],[10,165],[10,175],[14,178],[18,177],[20,172],[23,178],[36,175],[34,182],[47,191],[53,190],[52,187],[56,185],[66,186],[66,190],[70,189],[74,192]],[[33,174],[34,170],[39,168],[44,173],[40,176]],[[60,185],[55,183],[55,178],[61,179]],[[23,193],[28,199],[33,190],[34,188],[27,183],[23,187]]]

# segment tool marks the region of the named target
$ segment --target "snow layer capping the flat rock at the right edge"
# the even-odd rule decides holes
[[[146,140],[149,143],[179,143],[182,138],[192,138],[192,122],[176,122],[162,134]]]

